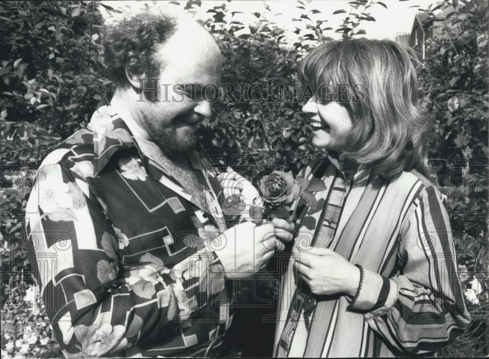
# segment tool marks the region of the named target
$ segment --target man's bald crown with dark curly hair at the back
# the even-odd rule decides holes
[[[121,87],[130,85],[127,72],[154,78],[165,63],[192,58],[205,64],[187,65],[222,63],[213,37],[187,15],[169,9],[142,11],[107,27],[105,53],[109,78]]]

